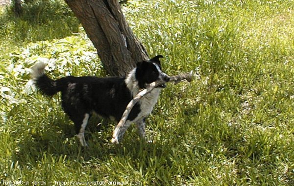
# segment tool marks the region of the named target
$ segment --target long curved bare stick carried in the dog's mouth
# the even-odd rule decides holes
[[[179,74],[176,76],[171,76],[171,79],[169,82],[174,82],[174,83],[179,83],[182,80],[187,80],[188,82],[192,81],[192,73],[185,73],[185,74]],[[113,131],[113,135],[112,135],[112,140],[111,143],[119,143],[119,134],[121,131],[121,128],[123,128],[123,125],[125,124],[128,115],[130,114],[132,108],[134,107],[134,105],[136,103],[138,103],[146,94],[148,94],[149,92],[151,92],[155,87],[167,83],[165,81],[156,81],[150,84],[147,84],[147,87],[145,89],[143,89],[141,92],[139,92],[131,101],[130,103],[128,103],[128,105],[126,106],[124,112],[123,112],[123,116],[121,121],[119,122],[119,124],[115,127],[114,131]]]

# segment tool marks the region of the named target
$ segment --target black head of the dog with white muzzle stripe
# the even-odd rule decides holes
[[[155,81],[169,82],[170,76],[161,71],[161,65],[159,58],[163,58],[162,55],[155,56],[149,61],[143,61],[137,63],[136,79],[140,88],[145,88],[146,83],[152,83]],[[160,85],[158,88],[166,87],[165,84]]]

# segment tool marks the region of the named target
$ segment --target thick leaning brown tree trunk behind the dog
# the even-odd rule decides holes
[[[128,26],[118,0],[65,1],[81,21],[110,75],[126,75],[136,62],[148,59],[145,48]]]

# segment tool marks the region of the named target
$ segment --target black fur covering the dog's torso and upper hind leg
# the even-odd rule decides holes
[[[124,83],[124,77],[68,76],[63,79],[66,85],[61,90],[62,107],[73,120],[77,133],[85,113],[95,111],[103,117],[120,121],[126,105],[133,98]],[[135,119],[140,111],[139,104],[135,105],[128,120]]]

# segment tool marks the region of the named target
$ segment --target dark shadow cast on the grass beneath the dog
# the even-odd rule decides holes
[[[64,121],[63,121],[64,120]],[[70,161],[82,157],[83,161],[95,159],[107,159],[109,155],[136,156],[138,149],[154,149],[154,144],[140,141],[139,136],[133,128],[126,134],[122,144],[115,145],[110,142],[114,123],[91,118],[85,132],[85,138],[89,147],[80,145],[75,137],[74,125],[68,117],[60,118],[48,124],[46,129],[35,127],[34,131],[28,132],[17,145],[13,161],[22,165],[41,162],[44,156],[53,156],[58,159],[66,155]],[[128,136],[130,135],[130,136]],[[147,146],[146,146],[147,145]],[[159,152],[160,153],[160,152]]]

